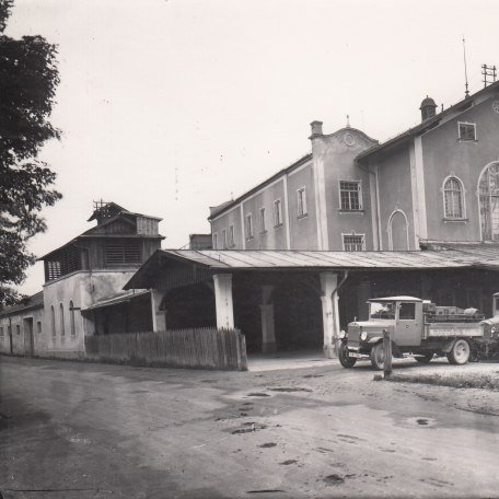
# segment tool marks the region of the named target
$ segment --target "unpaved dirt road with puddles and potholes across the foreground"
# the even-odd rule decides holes
[[[498,393],[373,374],[1,357],[0,490],[5,499],[499,497]]]

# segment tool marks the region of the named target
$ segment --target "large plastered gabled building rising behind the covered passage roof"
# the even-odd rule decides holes
[[[218,250],[407,251],[499,241],[499,82],[383,143],[313,121],[311,153],[210,209]]]

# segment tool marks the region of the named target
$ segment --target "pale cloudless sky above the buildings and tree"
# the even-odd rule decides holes
[[[499,65],[497,0],[15,0],[5,34],[57,44],[40,159],[63,199],[42,256],[88,230],[92,201],[162,217],[163,247],[208,233],[209,206],[310,152],[310,123],[384,141]],[[40,263],[20,288],[42,289]]]

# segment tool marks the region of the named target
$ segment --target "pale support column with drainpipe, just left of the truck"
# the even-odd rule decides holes
[[[322,272],[322,310],[324,329],[324,353],[329,359],[338,357],[339,339],[339,312],[338,312],[338,275],[334,272]]]

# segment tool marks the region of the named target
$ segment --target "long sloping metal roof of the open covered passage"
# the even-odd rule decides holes
[[[477,244],[413,252],[321,252],[285,250],[158,250],[124,289],[152,288],[175,267],[206,275],[239,271],[369,271],[489,268],[499,270],[499,245]],[[192,279],[193,282],[195,278]]]

